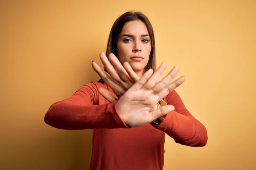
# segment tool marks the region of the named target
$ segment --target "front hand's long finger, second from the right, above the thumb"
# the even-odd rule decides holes
[[[172,70],[169,72],[169,74],[166,75],[160,82],[158,82],[152,90],[154,93],[159,93],[161,90],[163,90],[171,81],[172,79],[176,76],[177,72],[179,71],[178,66],[175,66],[172,68]]]

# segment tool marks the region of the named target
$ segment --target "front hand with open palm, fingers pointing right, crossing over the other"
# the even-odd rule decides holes
[[[176,66],[157,83],[161,74],[158,72],[153,74],[153,70],[149,69],[121,96],[116,103],[116,110],[126,125],[129,127],[142,126],[175,109],[172,105],[166,105],[156,110],[153,108],[160,99],[184,82],[185,78],[180,77],[169,83],[176,76],[177,71]]]

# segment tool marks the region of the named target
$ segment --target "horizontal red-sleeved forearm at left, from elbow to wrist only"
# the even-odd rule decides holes
[[[52,127],[66,130],[127,127],[116,112],[115,103],[78,105],[56,102],[50,106],[44,121]]]

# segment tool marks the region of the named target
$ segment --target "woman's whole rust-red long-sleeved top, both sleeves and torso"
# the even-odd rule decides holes
[[[70,98],[52,104],[45,122],[67,130],[93,129],[90,170],[163,170],[165,133],[176,143],[201,147],[207,143],[207,130],[185,108],[180,96],[172,91],[163,98],[175,111],[160,125],[128,127],[98,88],[105,83],[90,82]]]

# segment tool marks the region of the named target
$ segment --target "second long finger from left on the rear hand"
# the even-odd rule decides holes
[[[106,68],[106,70],[108,71],[108,74],[118,83],[122,82],[122,79],[119,77],[119,75],[117,74],[115,68],[113,67],[113,65],[111,65],[111,63],[108,60],[108,57],[101,52],[99,54],[99,58],[102,61],[102,64],[104,65],[104,67]]]

